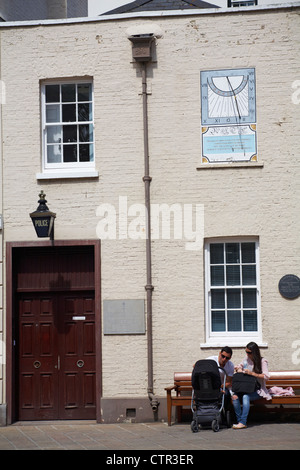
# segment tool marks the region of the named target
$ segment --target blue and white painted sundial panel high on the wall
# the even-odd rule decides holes
[[[201,77],[202,162],[257,161],[255,69]]]

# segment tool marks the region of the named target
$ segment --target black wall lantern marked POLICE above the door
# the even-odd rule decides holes
[[[39,206],[35,212],[31,212],[30,217],[39,238],[50,237],[54,240],[54,219],[56,214],[51,212],[46,205],[46,194],[41,191],[39,194]]]

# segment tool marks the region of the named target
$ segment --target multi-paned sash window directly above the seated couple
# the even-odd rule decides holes
[[[260,297],[256,241],[206,245],[207,335],[232,343],[259,337]]]

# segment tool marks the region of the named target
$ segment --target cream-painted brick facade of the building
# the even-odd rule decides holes
[[[282,276],[299,275],[300,104],[293,100],[299,7],[1,27],[4,265],[6,242],[36,241],[29,212],[41,189],[57,214],[57,240],[97,238],[100,204],[118,209],[120,196],[128,207],[144,204],[141,73],[127,38],[137,27],[161,33],[148,65],[151,203],[203,205],[205,239],[259,239],[263,354],[271,370],[299,368],[300,298],[287,300],[278,292]],[[256,70],[257,164],[208,168],[201,163],[200,71],[241,67]],[[94,83],[99,178],[37,179],[40,85],[77,77]],[[152,240],[159,397],[174,371],[191,370],[197,359],[219,350],[203,347],[204,251],[186,250],[185,243]],[[102,301],[146,299],[145,256],[144,240],[102,241]],[[0,325],[4,333],[5,308]],[[243,357],[243,346],[241,341],[234,348],[234,362]],[[102,333],[102,382],[103,398],[147,395],[146,334]],[[1,384],[5,404],[5,374]]]

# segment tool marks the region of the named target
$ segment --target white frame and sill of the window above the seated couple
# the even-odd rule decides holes
[[[257,331],[212,331],[211,325],[211,284],[210,284],[210,244],[212,243],[255,243],[256,253],[256,286],[230,286],[232,288],[256,288],[257,291]],[[205,241],[204,245],[205,257],[205,333],[206,343],[201,344],[201,347],[220,347],[225,343],[228,346],[243,347],[250,341],[255,341],[260,346],[266,346],[262,342],[262,329],[261,329],[261,292],[260,292],[260,259],[259,259],[259,240],[257,237],[226,237],[226,238],[211,238]],[[241,262],[240,262],[241,263]],[[219,288],[226,288],[228,286],[218,286]]]

